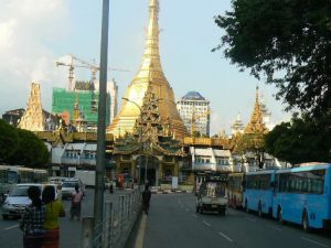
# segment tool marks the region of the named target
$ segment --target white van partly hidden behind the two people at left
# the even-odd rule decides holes
[[[40,183],[22,183],[17,184],[6,197],[2,204],[2,218],[21,217],[26,206],[31,204],[31,200],[28,196],[28,188],[30,186],[39,186],[41,192],[45,186],[51,185],[55,190],[55,198],[62,200],[61,190],[56,184],[40,184]]]

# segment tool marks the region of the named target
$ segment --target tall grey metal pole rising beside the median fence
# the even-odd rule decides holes
[[[103,1],[103,23],[100,44],[100,74],[99,74],[99,103],[98,103],[98,130],[97,130],[97,161],[95,173],[94,194],[94,226],[98,226],[94,237],[103,233],[104,215],[104,176],[105,176],[105,153],[106,153],[106,94],[107,94],[107,58],[108,58],[108,20],[109,0]]]

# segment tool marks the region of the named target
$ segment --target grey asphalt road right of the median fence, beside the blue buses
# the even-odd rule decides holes
[[[141,233],[140,233],[141,234]],[[293,225],[228,209],[196,214],[191,194],[153,195],[143,248],[331,248],[331,233],[306,234]]]

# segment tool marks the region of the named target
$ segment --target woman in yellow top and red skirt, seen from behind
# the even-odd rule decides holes
[[[65,217],[63,204],[55,200],[55,187],[45,186],[42,201],[45,204],[46,214],[44,228],[46,230],[42,248],[58,248],[60,247],[60,225],[58,217]]]

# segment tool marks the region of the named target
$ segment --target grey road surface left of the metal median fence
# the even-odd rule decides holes
[[[105,200],[115,201],[115,211],[117,209],[118,195],[125,194],[127,191],[115,191],[110,195],[105,192]],[[87,190],[83,202],[82,216],[93,216],[94,191]],[[78,248],[81,244],[82,223],[78,220],[70,220],[71,201],[63,201],[66,217],[61,218],[61,248]],[[1,214],[1,213],[0,213]],[[20,248],[22,245],[22,231],[18,227],[18,219],[3,220],[0,219],[0,248]]]

